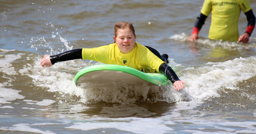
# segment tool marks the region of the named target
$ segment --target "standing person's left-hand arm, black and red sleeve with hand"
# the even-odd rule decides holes
[[[198,37],[199,31],[203,27],[206,18],[207,18],[207,16],[205,16],[202,13],[200,13],[200,15],[196,18],[196,22],[193,27],[193,31],[191,33],[191,36],[188,38],[189,41],[195,41],[199,38]]]

